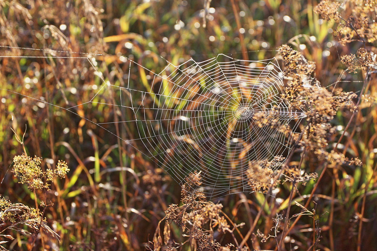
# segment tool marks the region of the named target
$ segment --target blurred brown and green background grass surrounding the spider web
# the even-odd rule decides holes
[[[316,4],[296,0],[2,1],[0,45],[103,54],[95,56],[95,66],[105,81],[119,84],[129,67],[121,56],[159,72],[166,66],[164,59],[178,65],[190,58],[200,61],[224,53],[261,60],[276,56],[277,47],[288,44],[316,62],[315,77],[322,86],[332,90],[332,84],[340,78],[337,87],[360,95],[364,73],[343,71],[340,56],[355,53],[362,43],[343,46],[334,40],[335,23],[319,19],[313,12]],[[51,54],[5,47],[0,51],[5,56]],[[59,242],[40,234],[25,237],[10,231],[7,234],[15,239],[5,238],[8,242],[3,245],[9,250],[26,250],[36,239],[35,250],[43,250],[42,246],[48,250],[145,249],[164,211],[170,204],[180,203],[181,187],[120,140],[136,134],[135,127],[116,128],[118,138],[88,121],[110,122],[120,116],[108,105],[83,104],[101,85],[98,73],[85,58],[6,57],[0,59],[0,64],[0,87],[22,94],[0,90],[0,194],[13,203],[30,206],[35,206],[35,196],[46,196],[46,201],[54,205],[46,207],[44,217],[60,236]],[[375,79],[368,88],[368,93],[375,93]],[[116,97],[100,93],[98,99],[112,103]],[[82,117],[59,108],[73,105],[79,105],[74,112]],[[285,237],[282,250],[315,250],[314,243],[320,250],[376,250],[376,103],[361,108],[338,150],[350,158],[359,157],[363,165],[326,169],[308,204],[316,218],[300,217]],[[332,123],[339,132],[329,136],[330,142],[339,140],[351,116],[348,110],[338,112]],[[23,145],[12,128],[19,137],[25,133]],[[43,169],[58,160],[66,161],[70,168],[66,179],[56,180],[46,193],[33,193],[26,185],[18,184],[9,169],[13,157],[23,154],[23,146],[29,156],[44,159]],[[299,161],[297,152],[290,164]],[[302,163],[307,172],[321,173],[324,166],[323,161],[313,160],[310,155]],[[297,184],[291,215],[302,213],[294,202],[304,205],[315,184]],[[276,214],[287,210],[290,186],[281,185],[276,199],[271,197],[262,208],[256,227],[261,233],[268,236]],[[224,214],[235,224],[245,222],[239,228],[244,236],[264,198],[261,193],[238,193],[214,203],[220,202]],[[173,228],[171,234],[177,242],[182,240],[178,228]],[[233,241],[230,233],[216,232],[213,238],[222,246]],[[260,242],[260,236],[250,238],[247,243],[251,250],[276,250],[277,238],[266,242]],[[183,250],[190,250],[190,246]]]

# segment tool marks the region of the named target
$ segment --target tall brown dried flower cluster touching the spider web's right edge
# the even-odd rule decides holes
[[[360,56],[365,56],[363,53],[360,52]],[[353,99],[357,95],[343,91],[331,93],[321,87],[310,75],[315,69],[314,63],[306,61],[291,47],[287,45],[279,47],[279,54],[287,68],[284,76],[291,79],[282,97],[290,103],[292,108],[300,109],[307,114],[307,125],[303,130],[300,145],[306,147],[320,160],[327,160],[330,163],[335,160],[337,163],[347,162],[348,159],[343,154],[327,150],[328,140],[336,132],[336,128],[330,122],[342,107],[349,108],[351,111],[356,110]],[[340,155],[342,157],[339,157]]]

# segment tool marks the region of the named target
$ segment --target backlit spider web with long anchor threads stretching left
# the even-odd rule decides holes
[[[28,57],[87,60],[100,84],[83,104],[104,104],[131,114],[116,122],[90,121],[116,137],[116,124],[135,126],[138,135],[122,140],[181,185],[187,184],[190,174],[200,176],[200,183],[189,184],[209,199],[254,192],[250,167],[287,157],[306,117],[282,99],[283,75],[276,58],[246,61],[219,54],[201,62],[192,58],[181,65],[167,62],[159,73],[126,58],[129,70],[121,85],[103,78],[95,66],[96,55],[57,56],[71,52],[40,50],[52,56]],[[102,102],[102,95],[113,95],[116,103]],[[58,107],[78,114],[77,106]]]

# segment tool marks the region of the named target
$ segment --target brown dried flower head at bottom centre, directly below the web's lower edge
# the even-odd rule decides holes
[[[190,187],[201,184],[199,173],[190,173],[187,184],[182,187],[182,205],[171,204],[165,211],[166,216],[159,222],[164,224],[164,232],[161,234],[158,227],[151,242],[150,250],[177,250],[185,243],[191,242],[197,250],[230,250],[231,245],[221,246],[213,239],[213,231],[217,229],[221,233],[232,233],[229,222],[225,219],[221,204],[205,202],[202,193],[194,193]],[[177,243],[172,239],[170,224],[177,225],[182,236],[188,237],[183,243]],[[228,248],[228,249],[227,249]]]

